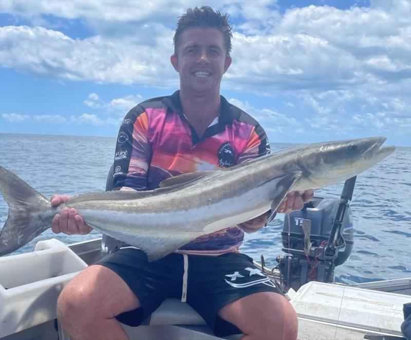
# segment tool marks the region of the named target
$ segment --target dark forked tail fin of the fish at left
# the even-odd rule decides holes
[[[9,206],[9,216],[0,231],[0,256],[24,246],[44,230],[52,221],[50,201],[34,190],[20,177],[0,167],[0,191]]]

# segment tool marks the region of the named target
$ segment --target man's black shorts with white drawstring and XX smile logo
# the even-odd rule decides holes
[[[104,265],[117,273],[141,303],[141,308],[117,316],[123,324],[138,326],[164,299],[182,297],[182,254],[173,253],[148,262],[141,250],[125,247],[105,256],[96,264]],[[186,302],[218,336],[241,333],[237,327],[218,316],[222,307],[257,292],[280,293],[270,279],[253,264],[252,258],[241,253],[188,255],[187,273]]]

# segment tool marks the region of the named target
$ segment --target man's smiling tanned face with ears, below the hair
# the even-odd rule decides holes
[[[222,75],[231,64],[222,33],[216,28],[189,28],[180,36],[171,63],[181,89],[196,94],[219,93]]]

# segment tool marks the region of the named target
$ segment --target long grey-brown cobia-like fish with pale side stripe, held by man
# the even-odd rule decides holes
[[[88,225],[155,261],[202,235],[274,211],[289,191],[322,188],[358,175],[394,152],[394,146],[382,147],[385,140],[300,145],[229,168],[170,177],[154,190],[84,193],[57,207],[0,167],[0,188],[9,206],[0,255],[40,235],[67,206],[76,208]]]

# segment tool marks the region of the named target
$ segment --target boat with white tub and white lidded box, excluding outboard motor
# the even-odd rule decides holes
[[[57,320],[57,298],[64,285],[103,252],[101,239],[71,245],[49,239],[39,241],[33,252],[0,258],[0,339],[68,339]],[[273,282],[279,280],[277,270],[255,264]],[[367,334],[400,339],[411,278],[353,285],[311,281],[288,297],[297,312],[300,340],[363,339]],[[131,339],[221,339],[177,299],[165,300],[141,326],[123,327]]]

